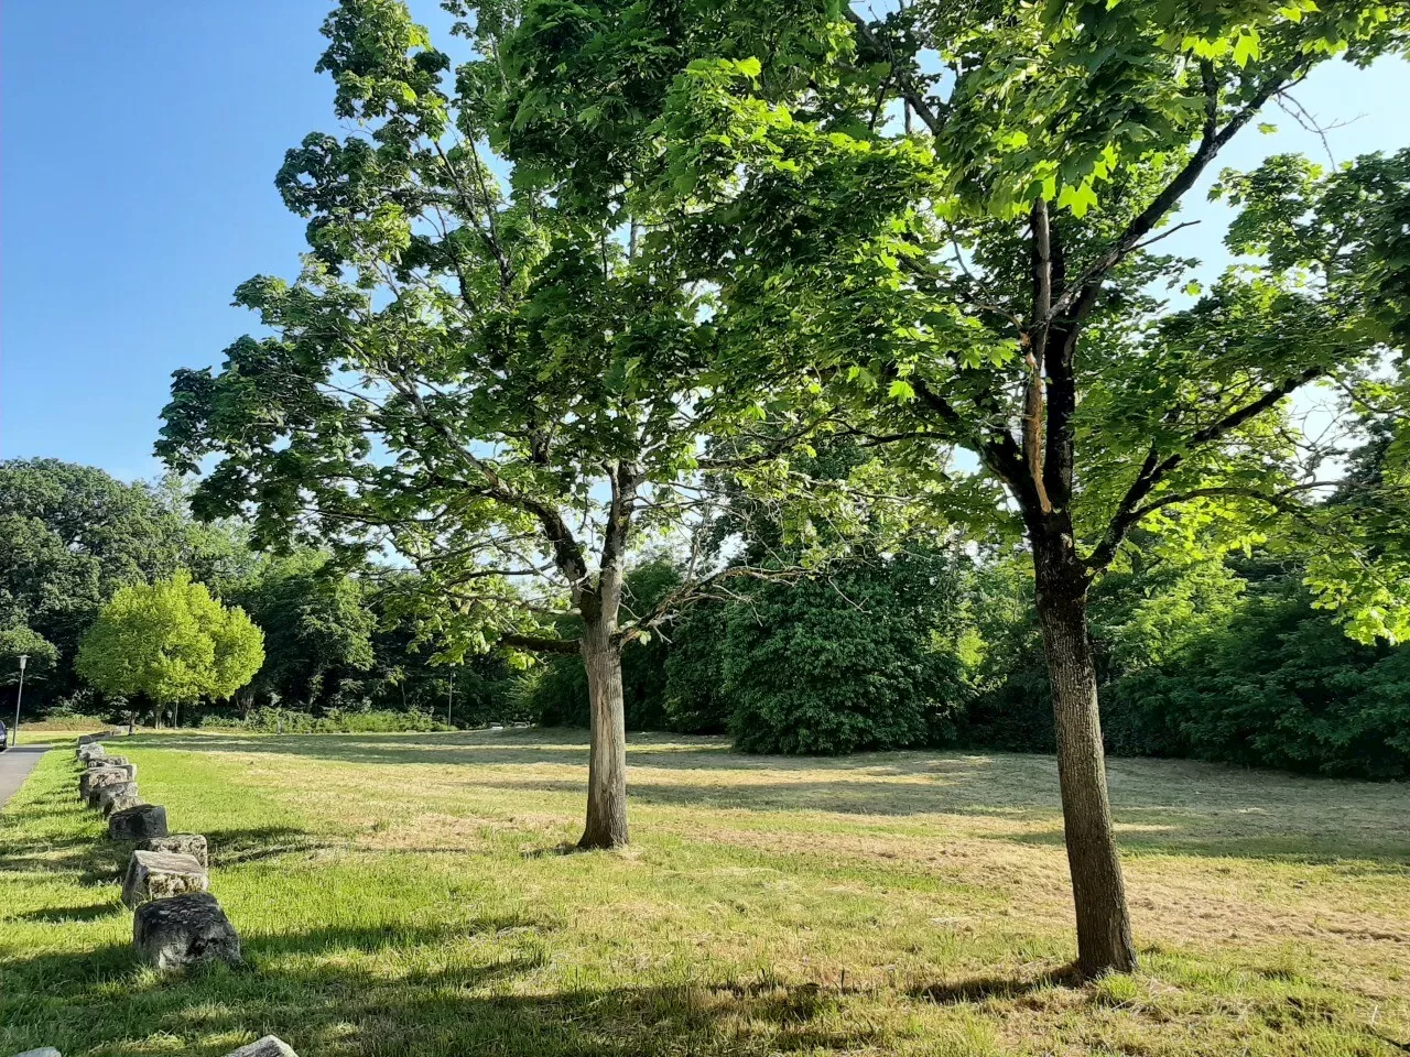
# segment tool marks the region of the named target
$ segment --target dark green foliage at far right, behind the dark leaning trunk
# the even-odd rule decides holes
[[[991,582],[1000,571],[986,574]],[[1355,778],[1410,775],[1410,648],[1362,645],[1268,560],[1110,576],[1094,592],[1103,733],[1120,755],[1176,755]],[[1010,591],[1026,585],[1010,578]],[[1035,622],[986,596],[986,658],[964,744],[1050,753]]]

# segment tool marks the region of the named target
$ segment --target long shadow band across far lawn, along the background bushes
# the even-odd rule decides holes
[[[585,731],[560,730],[173,734],[149,741],[162,748],[272,753],[341,764],[436,764],[462,768],[467,786],[574,799],[582,796],[582,782],[546,765],[585,771],[587,764]],[[722,738],[634,734],[627,764],[629,795],[637,803],[752,813],[993,817],[1026,827],[1022,833],[1008,827],[993,834],[994,840],[1043,847],[1062,843],[1050,757],[921,751],[759,757],[735,753]],[[1394,788],[1246,772],[1197,761],[1118,760],[1110,769],[1124,848],[1410,870],[1410,837],[1394,824],[1410,799]],[[791,779],[794,774],[798,781]],[[1316,805],[1328,798],[1354,809],[1359,827],[1344,824],[1341,815],[1318,813]]]

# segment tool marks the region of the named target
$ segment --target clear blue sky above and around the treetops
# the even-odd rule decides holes
[[[254,326],[230,307],[257,272],[290,275],[303,221],[274,190],[283,151],[334,130],[313,73],[323,0],[6,0],[0,7],[0,458],[58,457],[151,476],[178,366]],[[412,0],[433,32],[434,0]],[[436,32],[444,39],[443,32]],[[1340,63],[1299,93],[1338,158],[1410,144],[1410,66]],[[1227,155],[1323,155],[1283,114]],[[1203,194],[1198,196],[1203,199]],[[1170,240],[1222,262],[1222,218]],[[1177,241],[1179,240],[1179,241]]]

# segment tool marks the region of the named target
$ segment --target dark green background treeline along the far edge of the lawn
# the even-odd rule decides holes
[[[127,485],[48,459],[0,464],[0,664],[8,685],[13,655],[31,655],[27,713],[141,710],[83,685],[78,643],[118,586],[185,568],[245,609],[266,651],[235,700],[188,722],[431,729],[450,706],[453,726],[587,724],[577,657],[527,671],[496,653],[433,665],[436,644],[416,644],[371,578],[330,576],[312,551],[255,557],[238,526],[199,524],[185,509],[171,483]],[[1296,561],[1256,551],[1108,575],[1093,596],[1093,638],[1110,750],[1410,774],[1410,647],[1352,641],[1311,607],[1301,579]],[[627,605],[651,607],[677,582],[668,557],[646,561],[630,572]],[[1052,751],[1031,592],[1018,555],[943,547],[860,552],[825,578],[750,583],[626,648],[627,727],[728,733],[760,753]]]

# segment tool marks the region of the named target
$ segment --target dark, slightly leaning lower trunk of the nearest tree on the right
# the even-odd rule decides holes
[[[1107,798],[1107,764],[1097,712],[1097,669],[1087,636],[1087,583],[1070,536],[1034,547],[1038,620],[1043,630],[1058,734],[1067,865],[1077,910],[1083,977],[1136,967],[1125,882]]]

